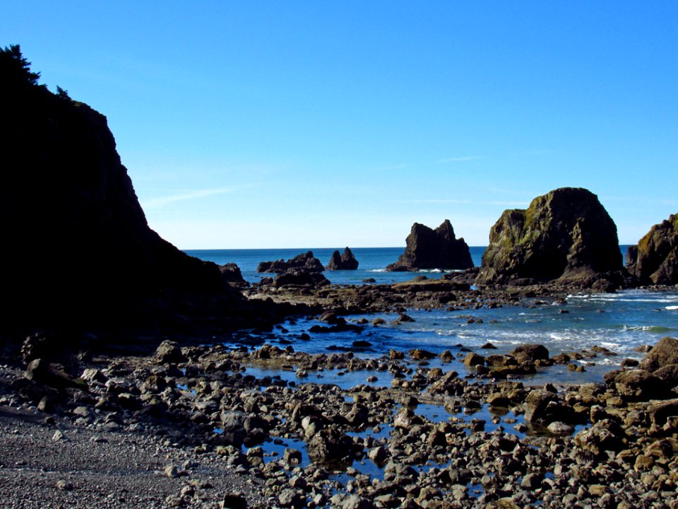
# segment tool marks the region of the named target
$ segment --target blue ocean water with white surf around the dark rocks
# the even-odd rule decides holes
[[[625,250],[626,246],[622,247]],[[333,250],[313,250],[316,257],[326,263]],[[360,262],[357,271],[326,271],[333,283],[361,283],[362,279],[372,277],[380,283],[405,281],[412,273],[391,273],[383,271],[386,264],[396,261],[403,248],[373,248],[353,250]],[[472,247],[472,257],[476,264],[484,247]],[[241,267],[243,275],[249,281],[258,281],[262,274],[256,273],[258,262],[270,259],[290,258],[304,250],[218,250],[191,251],[189,254],[209,259],[220,264],[235,262]],[[440,273],[427,272],[429,277],[439,277]],[[408,351],[422,348],[436,354],[450,350],[461,359],[464,349],[490,353],[508,353],[519,344],[538,343],[549,349],[551,355],[585,351],[593,346],[602,346],[616,355],[597,353],[593,358],[576,361],[585,368],[585,373],[572,373],[566,366],[556,366],[529,377],[535,383],[557,380],[562,383],[582,383],[600,381],[607,371],[617,368],[624,358],[641,359],[643,353],[636,347],[655,344],[665,336],[678,337],[678,291],[653,292],[642,290],[620,291],[591,295],[571,295],[566,304],[545,303],[535,305],[535,300],[525,300],[521,305],[504,308],[477,310],[408,310],[414,322],[395,322],[397,315],[370,314],[346,317],[350,322],[367,318],[370,324],[364,326],[361,333],[334,332],[310,333],[314,320],[292,320],[284,324],[284,329],[274,332],[255,334],[237,332],[225,337],[211,338],[211,342],[221,342],[227,346],[257,345],[263,342],[278,344],[281,348],[291,345],[297,351],[309,353],[331,353],[335,351],[353,351],[361,357],[378,358],[389,349]],[[386,324],[374,326],[372,320],[382,318]],[[324,325],[324,324],[323,324]],[[302,334],[311,336],[311,340],[302,339]],[[356,340],[369,341],[367,348],[355,348]],[[496,350],[483,351],[480,346],[491,342]],[[437,359],[430,366],[441,366]],[[449,369],[449,366],[441,366]],[[456,363],[453,369],[466,373],[462,363]],[[253,373],[256,375],[280,375],[295,379],[295,373]],[[390,385],[392,375],[377,373],[377,385]],[[351,387],[364,383],[364,373],[333,373],[321,375],[323,382],[337,383]]]

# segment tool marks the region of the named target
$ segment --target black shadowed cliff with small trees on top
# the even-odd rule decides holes
[[[163,291],[222,291],[215,264],[148,227],[106,117],[37,85],[19,58],[0,59],[4,316],[86,320]]]

